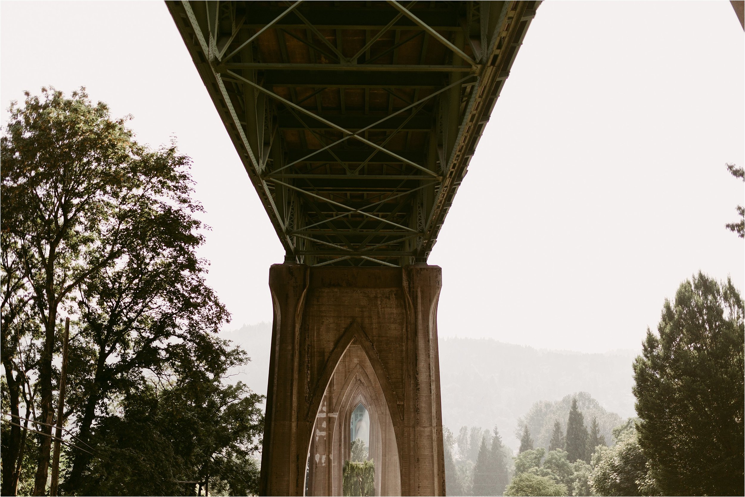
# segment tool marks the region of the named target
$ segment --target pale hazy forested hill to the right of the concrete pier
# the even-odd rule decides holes
[[[440,339],[443,425],[454,433],[462,425],[497,425],[504,443],[517,449],[518,419],[535,402],[557,401],[581,391],[606,411],[635,416],[631,365],[637,353],[587,354],[486,338]]]

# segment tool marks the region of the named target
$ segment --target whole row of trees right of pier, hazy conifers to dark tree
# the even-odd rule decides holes
[[[638,417],[588,393],[536,402],[513,458],[497,428],[445,430],[448,495],[744,495],[744,315],[731,281],[682,282],[633,361]]]

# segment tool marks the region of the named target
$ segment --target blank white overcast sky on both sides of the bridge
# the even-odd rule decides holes
[[[202,256],[233,314],[271,320],[284,253],[165,4],[0,4],[0,104],[86,86],[142,142],[176,136],[212,226]],[[440,336],[640,347],[701,269],[742,290],[744,33],[729,1],[547,1],[430,257]],[[3,123],[7,113],[3,111]]]

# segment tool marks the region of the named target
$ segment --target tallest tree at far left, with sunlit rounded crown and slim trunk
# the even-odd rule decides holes
[[[123,255],[138,209],[150,200],[141,193],[152,161],[130,146],[124,121],[112,121],[108,108],[92,105],[84,91],[69,99],[54,89],[42,89],[41,98],[25,95],[24,106],[11,104],[0,138],[1,231],[43,330],[37,382],[39,417],[46,423],[39,431],[47,436],[39,437],[34,489],[42,495],[54,417],[57,315],[81,282]],[[169,186],[162,186],[164,197],[171,196]]]

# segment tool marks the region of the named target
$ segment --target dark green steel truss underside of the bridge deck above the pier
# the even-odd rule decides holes
[[[167,1],[286,260],[426,262],[539,1]]]

